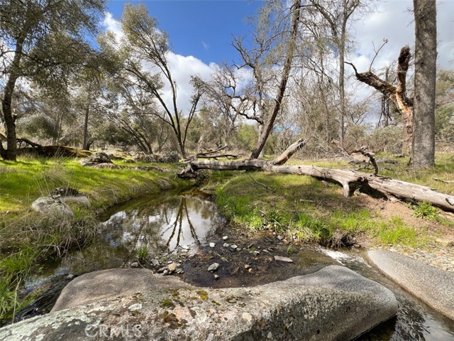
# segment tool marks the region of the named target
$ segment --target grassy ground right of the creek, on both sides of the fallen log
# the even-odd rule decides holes
[[[382,175],[454,193],[454,183],[434,180],[454,179],[454,163],[447,156],[425,171],[409,170],[402,158],[393,160],[397,163],[382,164]],[[292,163],[352,168],[345,161]],[[383,209],[384,201],[360,191],[346,198],[340,186],[309,176],[243,173],[218,188],[217,202],[233,222],[245,228],[272,229],[287,240],[333,247],[352,243],[353,237],[375,245],[426,247],[443,235],[443,229],[454,229],[453,220],[442,217],[430,204],[396,203],[399,207]]]

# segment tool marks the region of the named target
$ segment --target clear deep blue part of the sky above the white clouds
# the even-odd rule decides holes
[[[251,30],[247,17],[262,6],[259,0],[113,0],[107,2],[107,10],[119,19],[127,2],[148,7],[159,28],[169,34],[174,53],[192,55],[206,64],[231,64],[238,58],[230,45],[233,35],[246,36]]]

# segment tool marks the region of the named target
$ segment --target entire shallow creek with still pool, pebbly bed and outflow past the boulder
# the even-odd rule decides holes
[[[364,261],[361,251],[339,252],[314,245],[296,247],[271,233],[257,236],[233,229],[219,215],[208,193],[142,197],[112,207],[101,221],[99,237],[92,244],[35,269],[25,293],[37,288],[42,293],[17,314],[18,319],[48,312],[74,275],[90,271],[131,266],[158,271],[174,261],[180,264],[181,273],[176,276],[182,280],[221,288],[257,286],[309,274],[329,264],[343,264],[382,283],[399,301],[397,317],[358,340],[454,341],[453,321],[382,276]],[[214,246],[210,247],[210,243]],[[276,262],[272,258],[275,255],[288,256],[294,263]],[[220,264],[218,279],[206,271],[214,262]]]

